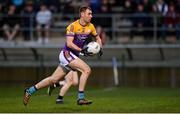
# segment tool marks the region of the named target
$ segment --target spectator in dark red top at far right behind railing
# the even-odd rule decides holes
[[[175,27],[176,27],[176,12],[175,6],[170,5],[167,14],[164,17],[163,26],[162,26],[162,37],[166,38],[167,33],[171,36],[175,36]],[[170,37],[167,39],[170,42],[175,43],[176,39]]]

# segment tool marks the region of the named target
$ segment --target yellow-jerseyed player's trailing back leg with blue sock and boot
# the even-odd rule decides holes
[[[27,103],[29,102],[30,96],[33,93],[35,93],[38,89],[47,87],[51,84],[58,82],[65,74],[66,74],[66,72],[63,70],[63,68],[61,66],[58,66],[57,69],[55,70],[55,72],[51,76],[40,81],[35,86],[25,89],[24,99],[23,99],[24,105],[25,106],[27,105]]]

